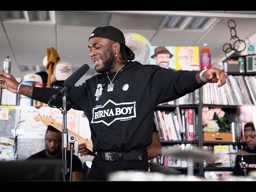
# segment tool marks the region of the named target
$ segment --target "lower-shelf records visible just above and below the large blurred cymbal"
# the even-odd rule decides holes
[[[195,145],[194,144],[174,144],[168,147],[174,147],[174,148],[181,148],[182,150],[184,149],[192,149]],[[172,156],[158,156],[156,158],[153,158],[151,160],[149,160],[149,162],[153,162],[153,163],[157,163],[157,164],[161,164],[164,165],[166,167],[173,167],[175,169],[178,170],[182,170],[182,169],[187,169],[188,166],[193,166],[193,168],[195,170],[198,170],[198,164],[194,163],[194,162],[188,162],[187,159],[184,158],[176,158],[176,157],[172,157]]]

